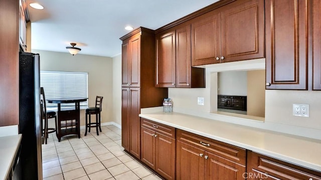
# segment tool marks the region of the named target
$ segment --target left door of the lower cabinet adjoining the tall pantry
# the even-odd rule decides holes
[[[141,161],[155,169],[155,131],[141,126]]]

